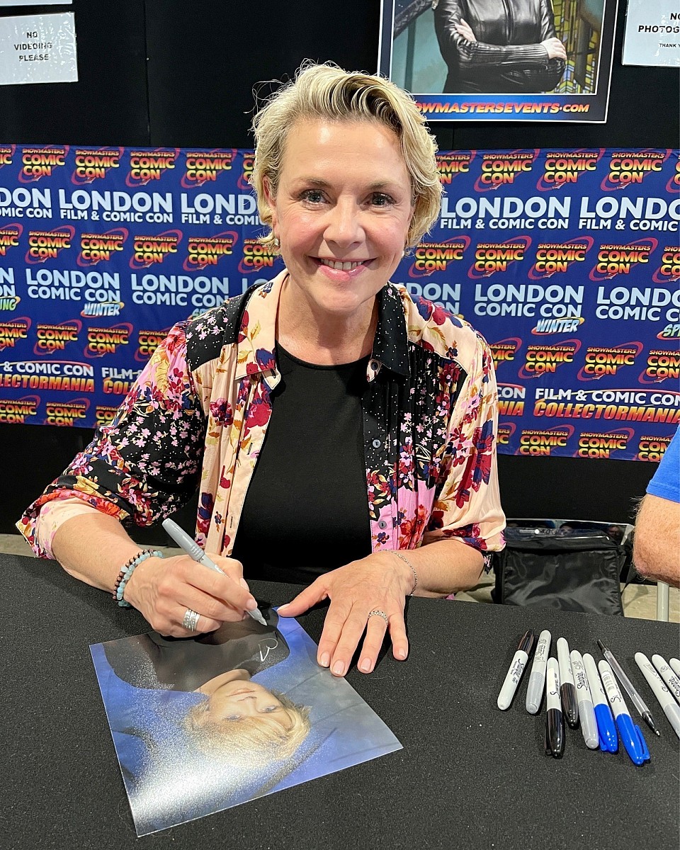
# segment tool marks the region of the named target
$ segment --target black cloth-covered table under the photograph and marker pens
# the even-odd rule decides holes
[[[677,625],[411,599],[408,660],[386,653],[370,676],[348,674],[403,750],[137,839],[88,644],[148,626],[53,562],[2,555],[0,567],[3,847],[677,847],[678,740],[633,661],[678,655]],[[272,604],[296,590],[252,589]],[[323,617],[300,618],[314,640]],[[651,762],[589,751],[571,729],[564,758],[546,757],[545,706],[524,711],[526,675],[513,706],[496,708],[528,627],[596,659],[597,638],[609,644],[660,727],[660,738],[643,727]]]

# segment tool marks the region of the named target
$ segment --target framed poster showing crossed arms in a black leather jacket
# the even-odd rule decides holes
[[[378,68],[428,121],[604,123],[616,0],[382,0]]]

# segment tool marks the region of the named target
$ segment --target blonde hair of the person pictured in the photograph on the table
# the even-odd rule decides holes
[[[214,723],[205,711],[205,702],[187,711],[184,728],[199,751],[235,764],[262,766],[290,758],[309,734],[309,708],[297,706],[284,694],[270,693],[283,706],[288,728],[266,714]]]

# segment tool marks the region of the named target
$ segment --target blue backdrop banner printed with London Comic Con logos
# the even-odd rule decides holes
[[[438,154],[439,221],[393,280],[490,343],[501,452],[666,450],[679,155]],[[0,422],[110,422],[174,322],[282,268],[258,241],[251,170],[249,150],[0,145]]]

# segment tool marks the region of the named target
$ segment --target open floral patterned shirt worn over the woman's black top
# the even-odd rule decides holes
[[[55,500],[77,497],[149,525],[199,490],[196,540],[229,556],[280,379],[275,320],[285,278],[173,327],[111,424],[20,519],[35,553],[50,557],[37,525]],[[447,537],[499,550],[490,350],[466,322],[402,286],[390,283],[377,298],[361,401],[372,551]]]

